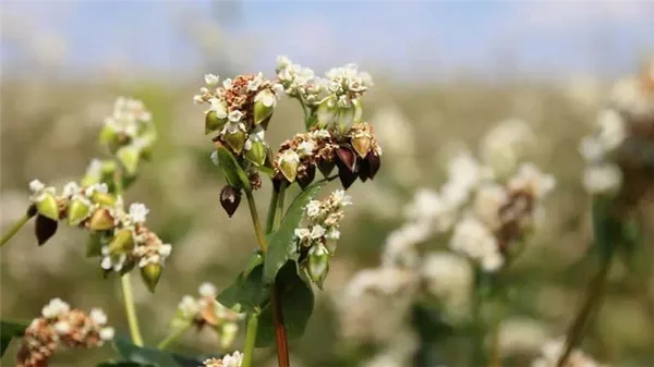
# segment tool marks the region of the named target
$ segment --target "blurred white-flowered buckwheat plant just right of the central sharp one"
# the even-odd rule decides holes
[[[533,136],[513,120],[491,133],[511,144]],[[367,365],[432,366],[435,359],[424,354],[431,344],[424,343],[452,332],[470,339],[470,366],[500,365],[497,330],[508,273],[542,222],[555,180],[520,161],[520,144],[507,150],[496,143],[501,152],[482,145],[484,159],[492,158],[486,164],[469,150],[453,155],[447,182],[419,189],[405,207],[407,222],[388,235],[380,266],[356,273],[348,285],[340,301],[344,337],[384,351]]]

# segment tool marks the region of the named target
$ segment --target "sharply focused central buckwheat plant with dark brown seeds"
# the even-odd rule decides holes
[[[342,189],[316,199],[323,186],[339,179],[347,189],[356,179],[373,179],[380,166],[382,148],[373,127],[362,120],[361,98],[373,85],[354,64],[316,76],[307,68],[278,59],[277,75],[262,73],[220,79],[205,75],[205,86],[193,98],[207,106],[205,132],[214,143],[214,163],[226,185],[220,204],[231,217],[243,194],[247,200],[258,249],[232,285],[217,295],[226,307],[247,314],[243,353],[208,359],[206,366],[252,366],[255,346],[276,342],[279,366],[289,366],[288,339],[296,338],[312,314],[312,284],[323,286],[340,236],[344,208],[351,204]],[[302,130],[277,149],[266,140],[274,129],[272,113],[282,96],[299,102]],[[334,170],[338,173],[331,175]],[[319,171],[324,179],[316,179]],[[270,182],[265,227],[259,222],[254,192]],[[286,206],[294,184],[300,193]],[[185,298],[180,310],[187,320],[206,322]],[[184,311],[181,311],[184,314]]]

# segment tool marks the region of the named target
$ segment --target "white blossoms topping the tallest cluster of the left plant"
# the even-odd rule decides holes
[[[152,114],[142,101],[118,97],[113,103],[113,112],[105,119],[105,126],[114,133],[136,138],[143,130],[143,125],[150,121]]]

